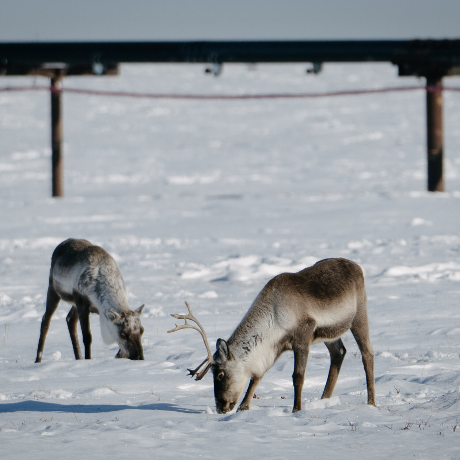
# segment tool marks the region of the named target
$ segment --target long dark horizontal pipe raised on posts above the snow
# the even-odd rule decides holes
[[[42,63],[364,62],[460,64],[460,40],[0,43],[0,70]]]

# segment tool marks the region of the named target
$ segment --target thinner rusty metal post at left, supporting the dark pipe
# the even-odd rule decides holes
[[[64,196],[62,167],[61,75],[51,78],[52,196]]]

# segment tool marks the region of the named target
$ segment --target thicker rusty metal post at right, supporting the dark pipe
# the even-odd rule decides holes
[[[443,86],[443,77],[427,76],[427,86]],[[428,191],[444,191],[443,175],[443,92],[426,91],[426,138],[428,150]]]

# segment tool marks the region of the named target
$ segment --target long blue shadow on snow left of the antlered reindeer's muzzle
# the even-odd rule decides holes
[[[21,401],[20,403],[0,404],[0,413],[6,412],[70,412],[81,414],[99,414],[119,410],[166,410],[184,414],[202,414],[200,409],[186,408],[169,403],[144,404],[142,406],[127,406],[121,404],[57,404],[42,401]]]

